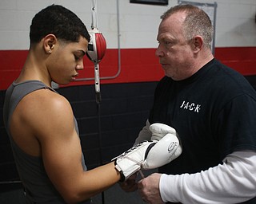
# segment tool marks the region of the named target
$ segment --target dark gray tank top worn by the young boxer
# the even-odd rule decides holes
[[[26,154],[14,142],[10,135],[10,118],[18,103],[24,96],[38,89],[47,88],[56,92],[53,88],[46,86],[38,80],[26,80],[22,83],[13,83],[6,91],[6,98],[3,108],[4,123],[10,138],[10,144],[14,154],[14,160],[18,169],[19,177],[25,189],[26,203],[65,203],[62,196],[54,188],[52,182],[46,174],[42,157]],[[78,124],[74,118],[75,129],[78,132]],[[82,167],[86,171],[86,164],[82,155]],[[90,203],[90,201],[83,202]]]

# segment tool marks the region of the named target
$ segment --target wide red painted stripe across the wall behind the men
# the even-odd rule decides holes
[[[155,49],[121,49],[121,73],[101,84],[157,81],[163,72],[154,55]],[[5,90],[18,77],[26,61],[27,50],[0,50],[0,90]],[[216,48],[215,57],[243,75],[256,75],[256,47]],[[107,49],[99,63],[100,77],[114,77],[118,73],[118,49]],[[84,58],[79,78],[93,78],[94,65]],[[94,80],[72,82],[69,85],[94,84]]]

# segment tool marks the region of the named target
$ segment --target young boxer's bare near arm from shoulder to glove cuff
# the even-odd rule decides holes
[[[63,96],[41,90],[26,97],[23,108],[33,107],[26,110],[26,123],[38,140],[47,175],[66,202],[81,202],[118,182],[114,163],[83,171],[72,108]]]

